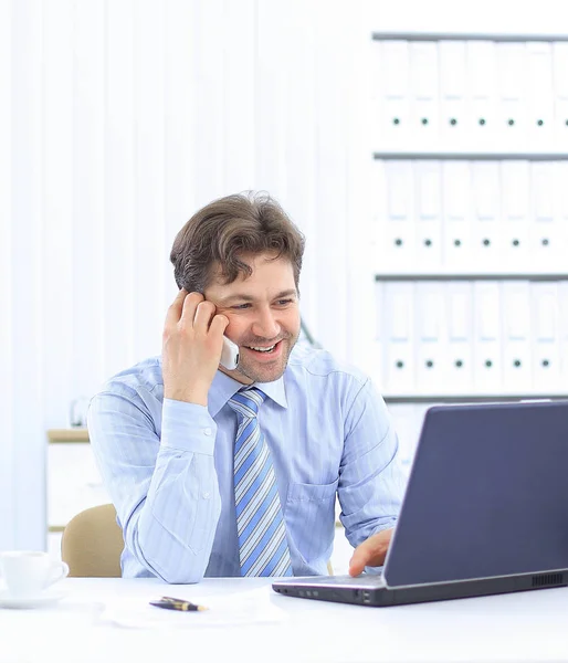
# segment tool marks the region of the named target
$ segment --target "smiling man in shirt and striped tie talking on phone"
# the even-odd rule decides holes
[[[267,196],[217,200],[176,238],[161,358],[115,376],[88,412],[124,577],[323,575],[336,494],[349,572],[382,565],[404,484],[397,436],[366,377],[295,347],[303,252]],[[220,366],[223,335],[235,370]]]

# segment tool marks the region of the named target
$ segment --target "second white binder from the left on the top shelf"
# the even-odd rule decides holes
[[[439,140],[440,76],[438,43],[410,42],[411,135],[413,149],[433,149]]]

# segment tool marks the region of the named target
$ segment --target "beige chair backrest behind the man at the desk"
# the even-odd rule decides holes
[[[61,557],[74,578],[119,578],[123,549],[123,530],[112,504],[74,516],[61,539]]]

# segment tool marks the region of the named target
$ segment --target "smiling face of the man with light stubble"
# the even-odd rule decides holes
[[[299,335],[294,270],[270,253],[240,257],[252,267],[249,277],[224,284],[218,274],[203,293],[229,318],[225,336],[239,346],[236,370],[220,370],[245,385],[272,382],[283,375]]]

